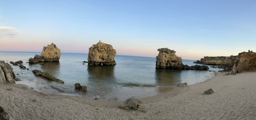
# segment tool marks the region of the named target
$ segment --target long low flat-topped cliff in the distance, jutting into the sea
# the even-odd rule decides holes
[[[194,63],[203,65],[222,65],[226,67],[232,67],[238,60],[238,56],[231,55],[230,57],[204,57],[201,60],[197,60]]]

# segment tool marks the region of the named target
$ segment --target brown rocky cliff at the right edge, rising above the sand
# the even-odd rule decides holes
[[[238,73],[242,71],[256,71],[256,53],[244,52],[239,53],[239,63],[237,65]]]

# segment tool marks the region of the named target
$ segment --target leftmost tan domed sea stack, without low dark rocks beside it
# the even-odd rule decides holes
[[[60,49],[53,43],[44,46],[41,53],[41,57],[44,59],[44,61],[59,61],[60,55]]]

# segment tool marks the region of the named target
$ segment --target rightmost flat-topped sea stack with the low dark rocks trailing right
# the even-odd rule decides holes
[[[174,50],[167,48],[157,49],[159,51],[156,57],[156,68],[171,68],[171,69],[184,69],[184,70],[209,70],[207,66],[188,66],[183,65],[181,57],[175,55]]]

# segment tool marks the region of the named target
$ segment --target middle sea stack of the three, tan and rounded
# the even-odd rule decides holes
[[[112,45],[99,41],[89,48],[88,65],[116,65],[115,55]]]

